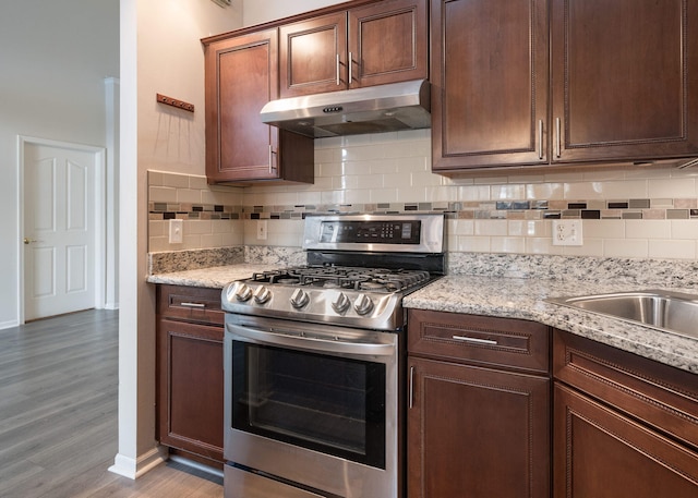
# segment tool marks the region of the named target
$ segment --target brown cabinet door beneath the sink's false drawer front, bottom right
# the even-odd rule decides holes
[[[555,498],[695,498],[698,453],[555,382]]]

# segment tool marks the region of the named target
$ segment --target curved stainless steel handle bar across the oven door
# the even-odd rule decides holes
[[[278,329],[255,329],[228,324],[233,339],[240,338],[263,345],[285,345],[288,348],[323,351],[326,353],[357,354],[362,356],[390,356],[395,353],[395,344],[374,342],[346,342],[339,339],[328,340],[318,337],[299,336]],[[388,332],[386,332],[388,333]]]

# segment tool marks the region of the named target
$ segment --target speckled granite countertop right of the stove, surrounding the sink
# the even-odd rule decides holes
[[[651,289],[617,283],[455,275],[407,295],[406,307],[519,318],[698,374],[698,339],[547,303],[547,297]],[[696,293],[695,289],[672,289]]]

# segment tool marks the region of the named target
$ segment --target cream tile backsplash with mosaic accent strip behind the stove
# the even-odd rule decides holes
[[[698,169],[615,167],[449,179],[431,172],[429,130],[315,141],[313,185],[210,186],[151,171],[151,251],[300,246],[309,212],[441,211],[462,253],[696,259]],[[167,242],[168,219],[184,243]],[[552,220],[582,219],[581,246],[553,246]],[[257,219],[268,236],[256,239]]]

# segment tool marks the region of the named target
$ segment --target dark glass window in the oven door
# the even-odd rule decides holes
[[[385,469],[385,365],[232,342],[232,426]]]

